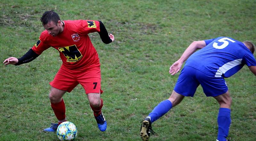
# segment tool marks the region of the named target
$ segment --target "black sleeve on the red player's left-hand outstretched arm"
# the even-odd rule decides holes
[[[28,50],[28,52],[26,54],[24,54],[22,57],[18,58],[18,63],[15,64],[15,66],[21,65],[21,64],[25,64],[28,62],[33,61],[34,59],[36,59],[36,57],[38,57],[39,55],[36,54],[31,48]]]

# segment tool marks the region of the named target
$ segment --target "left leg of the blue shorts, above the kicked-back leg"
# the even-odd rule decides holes
[[[180,95],[193,97],[199,82],[196,79],[196,69],[193,67],[185,66],[179,75],[175,84],[174,91]]]

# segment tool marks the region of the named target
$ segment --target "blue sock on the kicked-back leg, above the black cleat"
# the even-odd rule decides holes
[[[170,109],[172,109],[172,102],[170,102],[168,99],[164,100],[160,102],[147,117],[149,117],[151,123],[153,123],[159,117],[167,113]]]

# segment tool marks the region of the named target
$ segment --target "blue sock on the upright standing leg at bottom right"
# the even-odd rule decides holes
[[[226,141],[228,130],[231,123],[230,109],[220,108],[218,115],[218,140]]]

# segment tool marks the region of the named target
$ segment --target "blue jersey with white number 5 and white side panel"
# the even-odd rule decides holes
[[[252,52],[240,41],[229,37],[204,40],[206,46],[193,53],[185,66],[210,76],[230,77],[244,65],[256,66]]]

